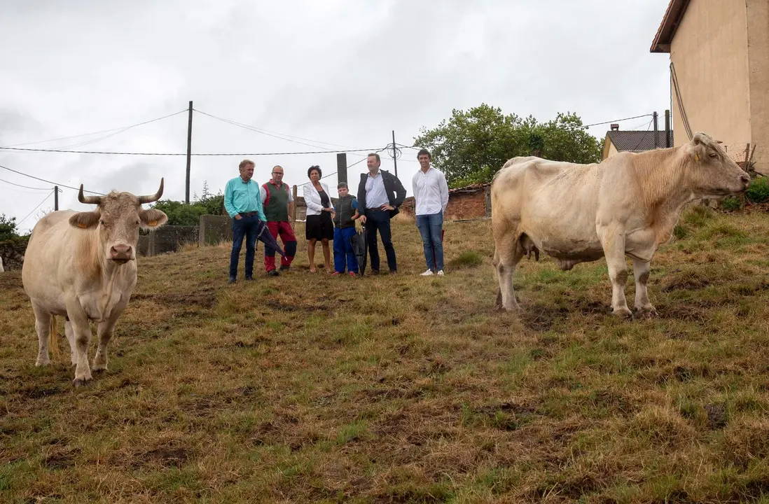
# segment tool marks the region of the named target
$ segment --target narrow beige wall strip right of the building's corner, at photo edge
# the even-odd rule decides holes
[[[751,142],[756,171],[769,174],[769,1],[747,0]],[[685,106],[685,105],[684,105]]]

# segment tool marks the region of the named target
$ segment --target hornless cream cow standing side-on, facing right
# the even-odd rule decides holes
[[[521,257],[542,251],[561,270],[606,257],[611,307],[632,317],[625,300],[625,256],[633,260],[635,307],[649,302],[649,262],[673,233],[685,204],[739,194],[750,177],[710,136],[677,148],[621,152],[600,164],[512,158],[491,183],[497,303],[518,310],[513,273]]]

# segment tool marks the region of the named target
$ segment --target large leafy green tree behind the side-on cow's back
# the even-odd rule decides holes
[[[554,161],[601,161],[601,145],[585,131],[577,114],[558,113],[540,123],[531,115],[502,114],[481,104],[468,111],[453,109],[436,128],[421,128],[414,145],[431,152],[435,167],[451,187],[491,181],[505,161],[538,155]]]

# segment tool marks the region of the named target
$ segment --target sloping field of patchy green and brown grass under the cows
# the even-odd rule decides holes
[[[524,259],[515,315],[488,221],[445,240],[444,278],[409,222],[396,276],[311,274],[301,242],[232,286],[228,244],[140,257],[78,390],[0,274],[0,501],[769,502],[769,214],[687,213],[631,322],[603,260]]]

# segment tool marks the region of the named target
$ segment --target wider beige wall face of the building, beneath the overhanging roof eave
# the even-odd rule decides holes
[[[764,10],[767,7],[767,0],[747,2],[763,2]],[[761,9],[751,6],[751,10]],[[670,58],[692,134],[704,131],[727,145],[751,141],[749,83],[753,75],[748,72],[746,34],[746,0],[689,3],[671,43]],[[689,138],[678,110],[672,74],[671,97],[674,145],[678,146]]]

